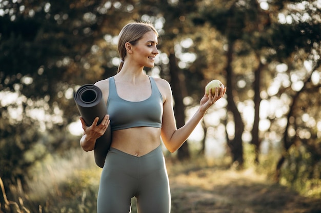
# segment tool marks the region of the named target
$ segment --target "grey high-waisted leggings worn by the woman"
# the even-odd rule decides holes
[[[136,157],[114,148],[106,156],[97,213],[128,213],[131,198],[139,213],[169,213],[171,195],[162,147]]]

